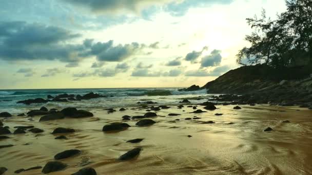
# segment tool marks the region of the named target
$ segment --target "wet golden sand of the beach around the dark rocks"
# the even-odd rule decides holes
[[[14,174],[20,168],[44,166],[64,150],[80,149],[82,154],[61,160],[68,168],[49,174],[71,174],[88,166],[97,174],[312,174],[312,111],[297,107],[242,105],[242,110],[233,110],[232,105],[216,106],[217,110],[202,114],[190,114],[194,110],[186,105],[182,109],[172,106],[156,112],[158,117],[152,119],[157,123],[151,126],[135,126],[139,119],[123,121],[132,127],[115,133],[103,133],[102,127],[122,122],[124,115],[143,115],[146,111],[128,107],[107,114],[103,108],[84,108],[94,117],[47,122],[38,122],[40,116],[33,117],[34,121],[12,117],[3,120],[12,133],[14,126],[27,125],[45,132],[40,133],[44,136],[27,132],[0,140],[0,145],[14,145],[0,149],[0,166],[8,168],[5,174]],[[206,111],[202,107],[198,109]],[[181,116],[170,117],[169,113]],[[184,120],[194,116],[201,119]],[[180,121],[169,122],[175,119]],[[215,123],[201,124],[210,120]],[[284,120],[290,123],[282,123]],[[267,126],[274,130],[263,132]],[[76,132],[65,134],[68,140],[55,140],[57,135],[50,133],[56,127],[71,127]],[[144,140],[126,143],[136,138]],[[135,147],[142,147],[138,158],[116,160]],[[42,174],[41,170],[21,174]]]

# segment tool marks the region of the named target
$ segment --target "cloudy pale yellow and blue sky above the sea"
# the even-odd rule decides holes
[[[0,89],[200,86],[284,0],[0,1]]]

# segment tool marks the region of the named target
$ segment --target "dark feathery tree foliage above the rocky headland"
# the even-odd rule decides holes
[[[276,20],[267,18],[265,10],[260,19],[246,19],[255,31],[246,35],[251,46],[239,51],[238,63],[266,63],[273,67],[312,63],[312,1],[287,0],[286,6],[287,11]]]

